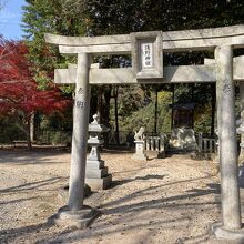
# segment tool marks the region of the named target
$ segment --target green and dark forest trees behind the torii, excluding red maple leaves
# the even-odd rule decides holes
[[[243,23],[243,20],[242,0],[27,0],[22,18],[22,29],[26,33],[23,39],[16,43],[1,38],[1,43],[3,48],[10,43],[26,45],[28,51],[22,57],[31,79],[37,83],[38,90],[50,91],[53,70],[67,68],[68,63],[75,62],[75,58],[61,55],[55,47],[44,43],[45,32],[94,37],[224,27]],[[234,53],[240,54],[244,54],[243,51],[237,50]],[[166,53],[164,65],[203,64],[204,58],[213,57],[213,52]],[[131,65],[130,57],[126,55],[96,57],[93,61],[99,62],[102,68]],[[4,81],[0,79],[0,88]],[[69,100],[72,103],[73,85],[52,89],[59,90],[58,96],[62,95],[62,101]],[[6,93],[1,96],[0,92],[0,102],[2,101],[7,101]],[[33,132],[30,140],[69,144],[72,134],[71,103],[64,102],[62,110],[53,109],[52,113],[48,111],[48,114],[45,110],[35,106],[31,111],[28,125],[23,112],[17,106],[11,113],[0,110],[0,143],[26,140],[26,129],[29,126]],[[90,120],[92,114],[98,112],[101,123],[111,129],[113,143],[119,144],[122,135],[125,136],[142,125],[145,125],[151,134],[171,132],[173,103],[194,104],[195,132],[214,136],[215,84],[93,85]],[[8,102],[2,103],[2,108]],[[237,116],[238,112],[236,85]]]

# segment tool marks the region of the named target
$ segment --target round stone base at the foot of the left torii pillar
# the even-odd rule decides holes
[[[71,211],[68,206],[63,206],[49,221],[60,226],[84,228],[99,217],[100,214],[98,210],[85,205],[79,211]]]

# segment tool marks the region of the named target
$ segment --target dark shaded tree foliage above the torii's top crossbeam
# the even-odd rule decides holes
[[[84,6],[95,35],[237,24],[244,16],[240,0],[87,0]]]

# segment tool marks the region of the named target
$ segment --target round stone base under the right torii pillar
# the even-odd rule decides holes
[[[221,223],[214,224],[212,231],[217,238],[244,243],[244,228],[225,230]]]

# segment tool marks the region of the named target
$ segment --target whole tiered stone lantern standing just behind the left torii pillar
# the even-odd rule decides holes
[[[94,121],[89,124],[90,138],[88,144],[91,145],[91,152],[87,159],[85,170],[85,183],[92,191],[108,189],[112,182],[112,175],[108,173],[108,167],[104,165],[104,161],[101,160],[99,146],[103,143],[101,133],[108,131],[108,129],[99,124],[99,116],[93,115]]]

